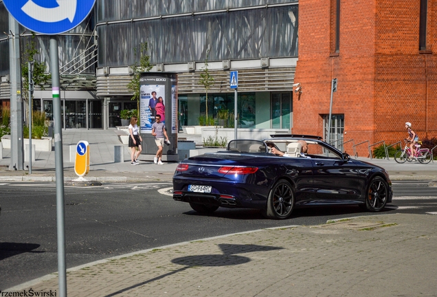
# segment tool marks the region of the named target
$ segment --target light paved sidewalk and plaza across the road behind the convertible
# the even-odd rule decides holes
[[[190,140],[190,136],[179,133],[179,138]],[[164,165],[153,164],[146,161],[146,156],[141,155],[139,165],[131,165],[129,148],[125,145],[124,163],[114,163],[114,146],[122,145],[118,140],[114,129],[109,130],[87,130],[87,129],[66,129],[63,130],[63,160],[64,178],[66,180],[76,179],[74,163],[69,162],[69,146],[76,145],[80,140],[87,140],[91,148],[90,170],[87,179],[91,181],[150,181],[150,180],[171,180],[177,167],[177,162],[164,162]],[[217,151],[214,148],[203,148],[202,151]],[[54,181],[55,177],[55,152],[36,152],[36,162],[32,164],[32,175],[28,170],[11,171],[5,170],[10,165],[10,150],[3,149],[3,159],[0,160],[0,181],[33,180],[33,181]],[[150,159],[150,156],[148,156]],[[392,180],[399,179],[426,179],[437,180],[437,162],[420,164],[418,162],[406,162],[398,164],[394,159],[359,159],[382,166],[390,173]],[[27,166],[27,163],[25,163]]]

